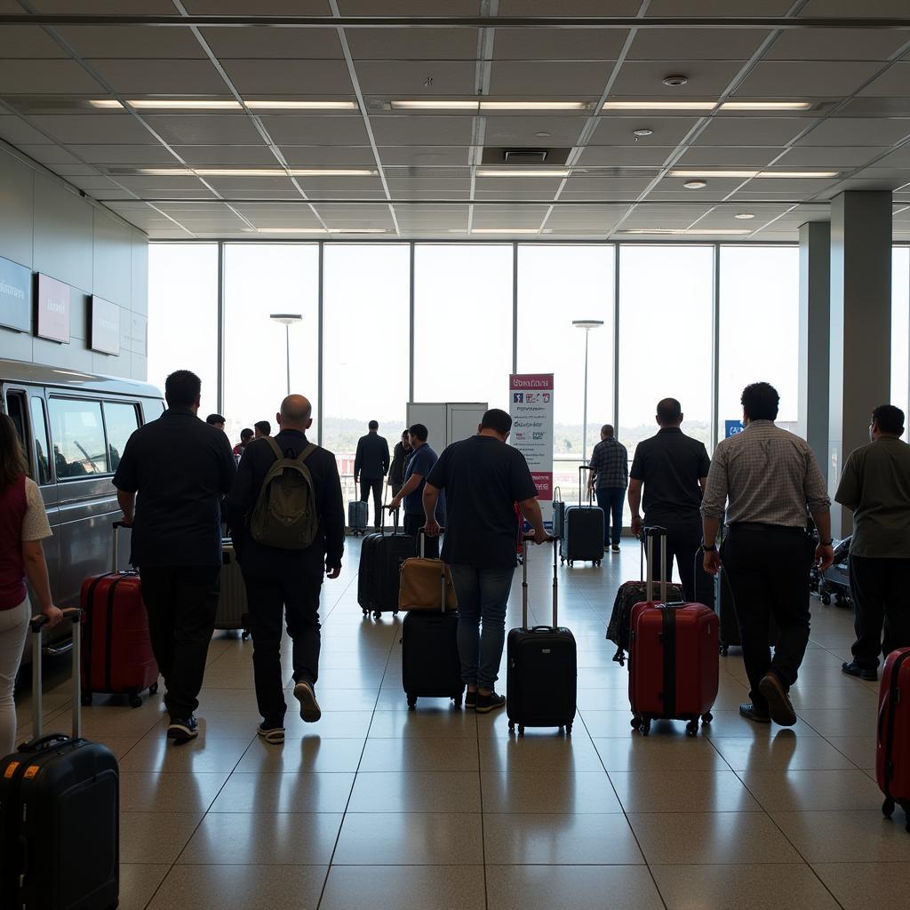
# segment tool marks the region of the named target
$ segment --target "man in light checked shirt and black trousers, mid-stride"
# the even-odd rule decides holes
[[[704,570],[723,561],[743,642],[751,703],[743,717],[793,726],[789,690],[809,642],[809,570],[834,560],[830,500],[808,442],[774,426],[780,396],[767,382],[743,389],[745,430],[718,443],[702,502]],[[806,508],[819,533],[806,532]],[[727,535],[714,541],[726,509]],[[773,657],[768,625],[779,630]]]

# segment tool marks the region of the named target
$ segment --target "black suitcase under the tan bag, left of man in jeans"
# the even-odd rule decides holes
[[[424,534],[420,531],[420,552],[423,553]],[[461,659],[458,652],[458,613],[440,604],[448,599],[448,570],[439,560],[435,562],[435,610],[410,610],[401,624],[401,683],[408,696],[411,711],[420,697],[450,698],[461,707],[464,682],[461,681]],[[450,581],[449,581],[450,583]]]

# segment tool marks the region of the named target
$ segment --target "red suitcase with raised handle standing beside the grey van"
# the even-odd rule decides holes
[[[114,524],[114,570],[94,575],[82,583],[82,703],[92,703],[92,693],[129,695],[134,707],[142,704],[139,694],[158,691],[158,665],[148,634],[148,614],[142,602],[137,571],[116,571]]]

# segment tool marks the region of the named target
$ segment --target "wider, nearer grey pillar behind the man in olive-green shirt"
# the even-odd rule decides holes
[[[831,203],[831,365],[828,489],[869,441],[875,405],[891,395],[891,192],[848,190]],[[832,507],[834,537],[851,513]]]

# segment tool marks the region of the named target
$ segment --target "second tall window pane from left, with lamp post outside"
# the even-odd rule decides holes
[[[224,416],[231,443],[257,420],[268,420],[277,432],[275,414],[288,394],[288,349],[290,390],[307,396],[315,418],[319,247],[226,244],[224,295]],[[293,313],[302,319],[285,326],[270,319],[273,313]],[[316,433],[311,435],[315,441]]]

